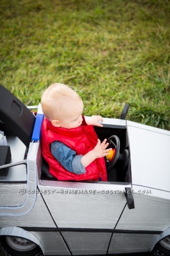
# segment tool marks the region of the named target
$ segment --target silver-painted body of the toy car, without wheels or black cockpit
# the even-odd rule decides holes
[[[44,255],[83,255],[147,252],[170,234],[170,132],[114,118],[103,124],[126,130],[124,182],[41,179],[40,140],[24,159],[25,145],[7,137],[12,161],[1,175],[1,236],[28,239]]]

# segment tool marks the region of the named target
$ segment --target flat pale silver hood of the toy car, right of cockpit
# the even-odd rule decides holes
[[[126,121],[132,186],[170,192],[170,132]]]

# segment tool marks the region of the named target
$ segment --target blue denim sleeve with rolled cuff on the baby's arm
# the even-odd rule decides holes
[[[77,155],[74,150],[67,147],[61,141],[54,141],[51,143],[50,149],[52,155],[67,171],[75,174],[86,172],[85,167],[81,163],[82,155]]]

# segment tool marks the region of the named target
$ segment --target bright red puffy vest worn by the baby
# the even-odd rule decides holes
[[[83,117],[83,116],[82,116]],[[45,160],[49,164],[49,172],[58,180],[99,180],[107,181],[104,157],[97,158],[86,167],[86,173],[75,174],[67,171],[50,152],[50,143],[55,140],[63,142],[76,151],[77,155],[85,155],[97,144],[97,134],[92,125],[87,125],[83,117],[82,125],[65,129],[55,127],[46,118],[41,125],[41,145]]]

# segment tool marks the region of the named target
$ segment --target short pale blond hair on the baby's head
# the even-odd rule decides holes
[[[69,86],[61,83],[50,85],[42,94],[41,107],[43,113],[49,121],[61,118],[61,109],[69,100],[81,99],[79,94],[73,91]],[[69,108],[69,106],[65,106]]]

